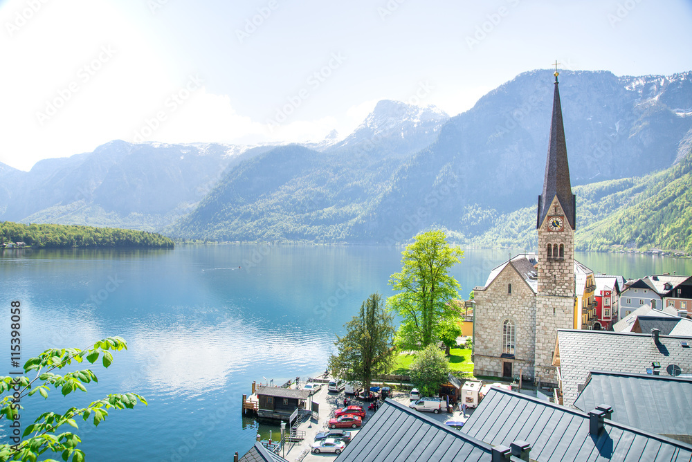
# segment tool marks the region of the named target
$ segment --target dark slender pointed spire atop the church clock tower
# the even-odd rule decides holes
[[[565,219],[570,227],[576,228],[576,196],[572,194],[570,184],[570,165],[567,163],[567,145],[565,144],[565,127],[563,127],[560,91],[558,90],[558,72],[555,71],[555,91],[553,95],[553,118],[550,125],[548,156],[545,163],[543,194],[538,196],[538,217],[536,229],[549,214],[553,198],[565,211]]]

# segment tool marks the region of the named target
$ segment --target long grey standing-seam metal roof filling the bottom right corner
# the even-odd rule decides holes
[[[592,437],[588,414],[495,387],[462,432],[493,446],[527,441],[538,462],[692,460],[692,445],[610,421]]]

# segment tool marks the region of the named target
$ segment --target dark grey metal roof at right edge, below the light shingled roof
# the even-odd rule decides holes
[[[692,378],[593,371],[574,406],[612,406],[612,421],[692,443]]]

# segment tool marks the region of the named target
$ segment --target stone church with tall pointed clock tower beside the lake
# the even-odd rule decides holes
[[[557,385],[552,365],[557,329],[588,329],[594,319],[589,293],[593,272],[574,259],[576,196],[563,127],[558,72],[543,192],[538,196],[538,252],[494,268],[473,289],[473,373],[522,376]]]

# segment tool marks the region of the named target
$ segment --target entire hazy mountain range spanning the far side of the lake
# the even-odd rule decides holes
[[[671,240],[646,220],[637,236],[626,220],[648,214],[666,230],[674,222],[668,203],[685,204],[677,186],[686,176],[671,185],[656,178],[686,165],[692,148],[692,72],[559,78],[577,237],[589,239],[581,248],[683,248],[684,225]],[[452,118],[384,100],[345,138],[332,132],[308,145],[113,141],[28,173],[0,166],[0,219],[219,241],[389,245],[437,227],[458,243],[535,246],[553,81],[552,71],[522,73]],[[646,209],[644,197],[663,212]],[[619,213],[632,233],[605,227]]]

